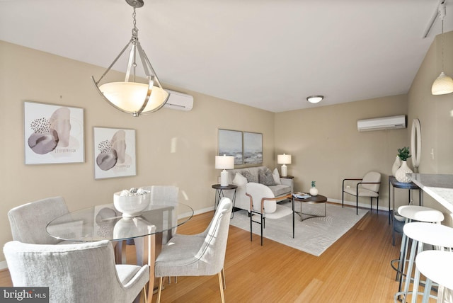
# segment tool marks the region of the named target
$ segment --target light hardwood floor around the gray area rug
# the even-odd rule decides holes
[[[212,212],[178,227],[179,234],[203,231]],[[386,212],[368,213],[321,256],[278,244],[230,227],[226,247],[226,302],[394,302],[398,288],[390,261],[398,258],[401,236],[391,245]],[[128,255],[134,251],[128,246]],[[220,302],[217,275],[179,277],[162,292],[161,302]],[[7,270],[0,286],[11,286]],[[156,302],[156,295],[153,297]],[[434,300],[432,300],[434,302]]]

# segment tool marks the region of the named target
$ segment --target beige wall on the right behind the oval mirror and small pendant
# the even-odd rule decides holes
[[[444,36],[444,71],[453,76],[453,32]],[[437,36],[428,50],[408,93],[408,118],[419,119],[421,125],[420,173],[453,173],[453,93],[432,96],[432,82],[442,69],[441,39]],[[410,134],[408,135],[410,138]],[[434,150],[434,159],[431,151]],[[436,207],[449,214],[439,203],[424,195],[426,206]],[[451,215],[444,224],[453,226]]]

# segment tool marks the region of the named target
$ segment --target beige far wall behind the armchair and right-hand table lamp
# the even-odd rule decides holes
[[[329,200],[341,201],[344,178],[379,171],[383,181],[379,207],[388,209],[388,176],[397,149],[408,146],[408,130],[358,132],[357,120],[406,113],[406,95],[277,113],[275,151],[292,154],[288,174],[295,177],[297,190],[308,191],[311,181],[316,181]],[[400,199],[399,193],[396,198]],[[402,198],[407,200],[407,193]],[[355,198],[346,195],[345,200]],[[369,198],[359,202],[369,207]]]

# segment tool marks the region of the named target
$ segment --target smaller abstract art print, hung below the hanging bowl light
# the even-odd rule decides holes
[[[93,127],[94,178],[135,176],[135,130]]]

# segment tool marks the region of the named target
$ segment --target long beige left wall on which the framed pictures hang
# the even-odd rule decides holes
[[[69,210],[77,210],[113,202],[113,193],[123,188],[173,184],[180,188],[180,201],[195,211],[213,207],[219,128],[263,133],[264,165],[274,165],[273,113],[168,87],[192,94],[193,110],[164,108],[134,118],[105,103],[93,88],[90,76],[103,71],[0,41],[0,247],[11,240],[8,210],[55,195],[65,198]],[[83,164],[24,164],[23,101],[84,108]],[[137,176],[94,180],[94,126],[136,130]]]

